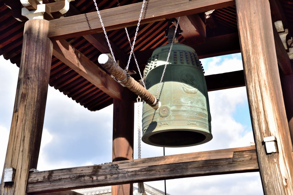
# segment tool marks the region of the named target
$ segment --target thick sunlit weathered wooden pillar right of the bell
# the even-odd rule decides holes
[[[246,90],[265,194],[293,194],[293,159],[268,0],[236,0]],[[263,138],[275,136],[278,153]]]

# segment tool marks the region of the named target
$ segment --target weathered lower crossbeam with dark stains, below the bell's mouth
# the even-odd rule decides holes
[[[258,171],[255,146],[30,172],[27,193]]]

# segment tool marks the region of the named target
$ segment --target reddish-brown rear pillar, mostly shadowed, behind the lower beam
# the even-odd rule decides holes
[[[133,159],[134,103],[131,97],[132,93],[125,89],[123,101],[114,100],[113,162]],[[112,195],[132,194],[132,184],[112,186]]]

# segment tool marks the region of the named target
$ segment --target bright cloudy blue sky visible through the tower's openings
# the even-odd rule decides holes
[[[241,54],[202,59],[205,75],[242,69]],[[10,129],[18,68],[0,56],[0,167]],[[209,92],[213,139],[200,146],[166,148],[166,155],[249,146],[253,142],[245,87]],[[137,105],[135,106],[137,118]],[[38,170],[101,164],[112,161],[113,106],[90,112],[49,87]],[[134,124],[137,158],[137,120]],[[162,156],[163,148],[142,143],[142,158]],[[1,173],[0,173],[1,174]],[[163,181],[148,182],[163,191]],[[263,194],[259,173],[167,180],[167,192],[182,194]]]

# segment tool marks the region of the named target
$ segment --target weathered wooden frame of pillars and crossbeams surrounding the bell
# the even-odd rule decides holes
[[[129,120],[134,113],[132,93],[65,40],[101,32],[96,12],[87,13],[87,18],[80,14],[50,21],[27,21],[0,194],[77,195],[70,190],[117,185],[112,194],[128,195],[132,194],[131,183],[136,182],[255,171],[260,172],[265,194],[293,194],[292,65],[286,63],[287,53],[280,47],[280,38],[272,26],[270,13],[275,9],[274,2],[177,0],[176,5],[173,0],[149,2],[143,23],[236,5],[255,146],[137,160],[133,160],[134,121]],[[108,9],[103,18],[105,28],[136,25],[137,13],[133,10],[139,10],[140,6],[137,3]],[[33,171],[38,162],[52,54],[114,99],[113,163]],[[267,142],[276,152],[268,151]]]

